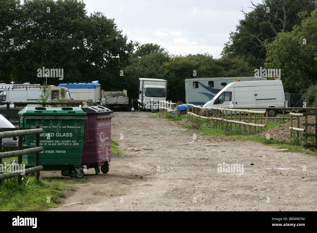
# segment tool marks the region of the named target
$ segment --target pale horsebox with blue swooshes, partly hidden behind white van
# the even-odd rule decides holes
[[[186,103],[204,105],[231,82],[267,80],[262,77],[225,77],[185,79]]]

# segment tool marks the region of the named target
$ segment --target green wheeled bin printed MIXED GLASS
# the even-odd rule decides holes
[[[25,107],[19,113],[19,126],[40,126],[40,165],[44,171],[68,171],[72,177],[82,178],[80,169],[85,141],[86,113],[80,107]],[[35,146],[35,135],[23,137],[26,146]],[[35,165],[35,153],[23,155],[26,167]]]

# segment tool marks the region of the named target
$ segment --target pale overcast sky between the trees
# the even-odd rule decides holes
[[[254,0],[253,3],[260,3]],[[101,11],[129,40],[156,43],[170,54],[204,54],[219,58],[250,0],[84,0],[88,14]],[[194,12],[196,9],[196,13]]]

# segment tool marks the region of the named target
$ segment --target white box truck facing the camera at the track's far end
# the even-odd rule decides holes
[[[167,81],[164,79],[139,78],[138,107],[139,110],[159,107],[159,100],[165,100],[168,94]]]

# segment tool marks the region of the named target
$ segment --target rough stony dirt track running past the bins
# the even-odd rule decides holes
[[[50,210],[317,210],[316,157],[208,138],[150,115],[116,113],[111,134],[124,155],[106,175],[85,172],[90,181],[62,202],[83,204]],[[243,164],[243,174],[218,172],[223,162]]]

